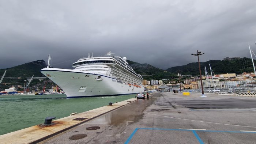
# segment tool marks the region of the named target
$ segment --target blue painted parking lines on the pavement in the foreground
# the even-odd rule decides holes
[[[240,132],[240,131],[223,131],[223,130],[191,130],[191,129],[160,129],[160,128],[135,128],[132,134],[128,137],[125,144],[128,144],[129,141],[132,139],[133,135],[138,131],[138,129],[148,129],[148,130],[174,130],[174,131],[190,131],[193,132],[196,139],[199,141],[200,144],[204,144],[203,141],[200,139],[196,131],[198,132],[224,132],[224,133],[256,133],[256,132]]]

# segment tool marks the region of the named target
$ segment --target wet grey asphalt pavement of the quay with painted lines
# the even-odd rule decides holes
[[[254,103],[255,97],[155,93],[149,100],[139,99],[42,143],[253,144]],[[212,106],[223,109],[207,109]]]

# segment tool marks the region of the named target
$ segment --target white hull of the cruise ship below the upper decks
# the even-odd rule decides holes
[[[77,69],[44,68],[41,72],[63,89],[67,98],[136,94],[142,86],[118,83],[104,74],[87,73]],[[101,76],[101,79],[98,79]]]

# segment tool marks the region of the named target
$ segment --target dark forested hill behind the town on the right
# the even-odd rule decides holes
[[[255,63],[255,62],[254,62]],[[206,66],[207,71],[210,73],[210,67],[215,74],[221,73],[236,73],[241,74],[242,72],[253,72],[253,65],[251,58],[237,58],[233,60],[210,60],[206,62],[200,62],[202,75],[204,75],[204,66]],[[168,72],[177,73],[180,69],[181,75],[199,75],[198,62],[192,62],[187,65],[177,66],[166,69]]]

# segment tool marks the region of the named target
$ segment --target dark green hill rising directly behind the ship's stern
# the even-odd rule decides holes
[[[173,73],[165,72],[165,70],[153,67],[150,64],[140,64],[129,60],[127,60],[127,62],[136,73],[142,75],[143,79],[146,80],[171,79],[172,77],[177,77]]]

